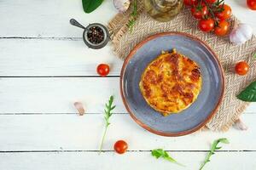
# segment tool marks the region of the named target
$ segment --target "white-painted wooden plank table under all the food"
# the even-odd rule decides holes
[[[234,14],[256,32],[256,12],[246,0],[226,0]],[[228,133],[202,132],[178,138],[148,133],[125,111],[119,94],[122,61],[111,47],[84,46],[82,31],[70,26],[107,24],[114,14],[112,0],[92,14],[84,14],[81,0],[0,0],[0,169],[198,169],[212,140],[226,137],[230,144],[212,156],[205,169],[256,169],[256,105],[242,118],[249,129]],[[111,77],[98,77],[96,65],[111,65]],[[103,133],[103,108],[115,96],[106,150],[98,155]],[[78,116],[73,102],[82,101],[86,115]],[[125,139],[124,155],[113,144]],[[186,167],[150,156],[163,148]]]

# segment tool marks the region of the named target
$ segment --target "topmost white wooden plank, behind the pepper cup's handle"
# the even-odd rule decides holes
[[[256,22],[252,21],[255,12],[248,10],[245,0],[226,0],[225,3],[230,4],[233,13],[256,31]],[[91,14],[84,14],[80,0],[1,1],[0,37],[82,37],[82,30],[70,26],[71,18],[84,26],[92,22],[107,24],[116,13],[112,0],[104,1]]]

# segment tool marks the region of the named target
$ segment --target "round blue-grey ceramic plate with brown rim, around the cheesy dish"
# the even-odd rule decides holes
[[[139,82],[144,69],[161,50],[176,48],[201,67],[202,89],[198,99],[179,114],[162,116],[143,98]],[[193,133],[204,126],[218,109],[224,94],[224,73],[216,54],[205,42],[181,32],[165,32],[140,42],[125,59],[120,90],[127,111],[142,127],[163,136]]]

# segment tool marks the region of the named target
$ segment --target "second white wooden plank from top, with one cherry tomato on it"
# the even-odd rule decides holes
[[[93,50],[81,39],[0,39],[0,51],[0,77],[98,76],[101,63],[117,76],[122,66],[110,46]]]

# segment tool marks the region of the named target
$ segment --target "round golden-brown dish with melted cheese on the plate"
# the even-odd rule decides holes
[[[163,116],[188,108],[201,91],[201,72],[195,61],[163,53],[145,69],[139,87],[148,105]]]

